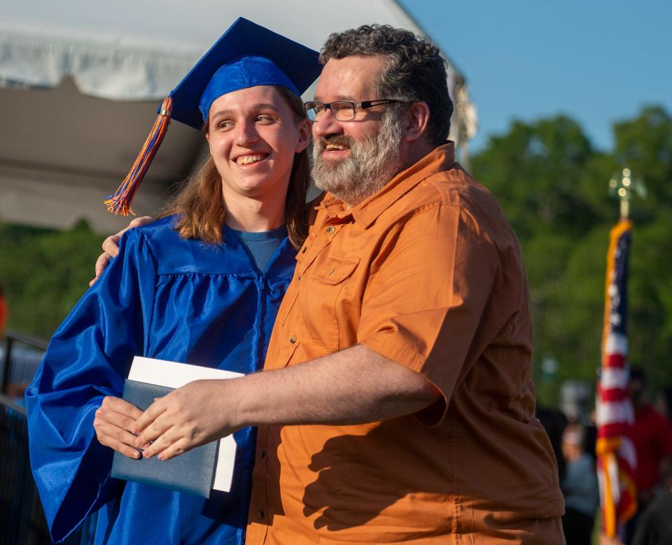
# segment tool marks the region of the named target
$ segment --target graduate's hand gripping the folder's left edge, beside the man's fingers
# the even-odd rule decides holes
[[[137,437],[132,430],[141,414],[137,406],[120,397],[104,397],[93,420],[99,443],[129,458],[140,458],[140,453],[134,447]]]

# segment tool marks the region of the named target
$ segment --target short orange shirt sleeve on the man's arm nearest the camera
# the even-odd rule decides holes
[[[358,342],[440,390],[444,406],[432,411],[433,425],[486,346],[477,331],[499,269],[486,227],[455,204],[433,206],[399,225],[371,268]]]

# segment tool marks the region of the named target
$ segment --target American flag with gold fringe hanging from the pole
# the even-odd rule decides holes
[[[635,449],[628,438],[634,420],[628,395],[627,281],[632,222],[611,229],[607,253],[602,369],[597,389],[597,468],[603,530],[614,537],[637,509]]]

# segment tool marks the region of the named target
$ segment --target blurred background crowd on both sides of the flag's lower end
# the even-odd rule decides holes
[[[596,472],[597,430],[587,410],[568,388],[563,410],[538,409],[555,452],[565,497],[563,530],[568,545],[591,545],[600,506]],[[621,535],[601,536],[601,545],[672,545],[672,387],[650,396],[647,375],[631,370],[634,423],[629,433],[637,455],[638,508]],[[581,397],[580,395],[578,397]],[[586,396],[588,399],[588,397]]]

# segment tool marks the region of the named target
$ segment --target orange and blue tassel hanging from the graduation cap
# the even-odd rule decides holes
[[[136,157],[133,167],[130,172],[127,174],[126,179],[118,187],[118,190],[115,194],[110,195],[105,201],[107,209],[109,212],[113,212],[115,215],[128,215],[128,213],[133,213],[131,210],[131,203],[135,195],[136,190],[138,189],[142,178],[144,178],[145,173],[149,169],[149,166],[152,164],[154,155],[156,151],[161,146],[163,137],[166,135],[168,130],[168,124],[170,122],[170,116],[173,111],[173,99],[167,97],[161,109],[159,110],[159,116],[154,122],[151,132],[147,136],[147,139]]]

